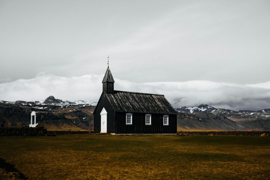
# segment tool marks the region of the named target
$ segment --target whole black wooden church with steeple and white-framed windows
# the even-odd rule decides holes
[[[114,90],[108,66],[94,114],[94,132],[176,134],[177,112],[164,95]]]

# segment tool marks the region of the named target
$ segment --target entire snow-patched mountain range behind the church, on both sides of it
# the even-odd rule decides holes
[[[93,130],[97,102],[62,101],[49,96],[44,101],[0,101],[0,121],[5,126],[28,126],[30,113],[47,130]],[[178,131],[269,131],[270,108],[259,111],[232,111],[207,104],[175,108]]]

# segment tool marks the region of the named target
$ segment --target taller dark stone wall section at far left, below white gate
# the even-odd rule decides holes
[[[0,136],[45,136],[47,130],[40,127],[2,127],[0,128]]]

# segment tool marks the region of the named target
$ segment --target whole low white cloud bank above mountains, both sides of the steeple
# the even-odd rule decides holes
[[[98,101],[103,75],[59,77],[45,73],[33,79],[0,84],[0,100],[34,101],[55,96],[62,100]],[[173,107],[208,104],[231,110],[270,108],[270,81],[240,85],[212,81],[134,83],[114,78],[115,90],[164,94]]]

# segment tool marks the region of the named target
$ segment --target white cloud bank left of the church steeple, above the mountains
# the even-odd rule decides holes
[[[98,100],[102,78],[91,74],[67,78],[40,73],[33,79],[0,84],[0,99],[33,101],[45,100],[52,95],[63,100]]]

